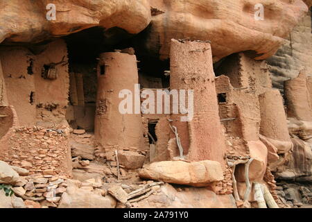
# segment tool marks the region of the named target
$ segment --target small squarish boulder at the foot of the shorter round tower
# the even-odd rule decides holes
[[[144,164],[145,156],[133,151],[118,151],[118,160],[126,169],[139,169]]]

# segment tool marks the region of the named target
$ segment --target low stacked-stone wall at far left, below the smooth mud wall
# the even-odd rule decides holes
[[[11,128],[0,140],[0,160],[31,174],[71,176],[71,153],[64,131],[35,126]]]

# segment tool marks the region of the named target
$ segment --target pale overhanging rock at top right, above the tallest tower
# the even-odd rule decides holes
[[[257,3],[264,6],[263,21],[254,19]],[[248,50],[256,51],[257,59],[274,55],[284,37],[308,11],[301,0],[162,0],[151,1],[151,6],[164,13],[153,17],[145,43],[148,49],[159,49],[164,59],[168,58],[171,38],[211,40],[214,61]]]

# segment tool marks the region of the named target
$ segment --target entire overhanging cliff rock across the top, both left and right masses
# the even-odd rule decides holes
[[[47,0],[0,3],[0,42],[39,42],[86,28],[119,27],[139,33],[153,22],[144,45],[160,58],[168,58],[171,38],[211,40],[214,61],[229,54],[253,50],[257,59],[275,54],[292,28],[311,6],[311,1],[213,1],[213,0],[110,0],[60,1],[56,20],[46,19]],[[262,3],[264,20],[256,21],[254,6]],[[160,12],[152,10],[150,6]],[[281,19],[282,18],[282,19]]]

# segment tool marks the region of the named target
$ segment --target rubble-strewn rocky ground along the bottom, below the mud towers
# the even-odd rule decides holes
[[[119,151],[118,158],[114,153],[103,155],[94,146],[93,135],[85,133],[85,130],[73,130],[70,141],[73,178],[51,175],[48,172],[43,176],[29,175],[27,169],[0,162],[0,207],[253,207],[235,203],[231,192],[217,195],[207,187],[194,187],[196,181],[201,180],[200,174],[195,173],[191,180],[188,180],[187,173],[191,172],[189,169],[192,167],[188,162],[173,162],[179,167],[169,166],[171,171],[164,173],[162,170],[156,170],[164,166],[153,168],[153,165],[159,165],[159,162],[140,170],[145,160],[144,153],[130,151],[129,148],[128,151]],[[218,166],[215,169],[213,166],[214,164],[208,166],[210,171],[217,172]],[[179,178],[176,176],[179,172],[175,172],[177,169],[187,173]],[[223,179],[214,178],[218,173],[207,175],[209,178],[205,178],[205,181]],[[144,177],[154,177],[155,180],[142,179]],[[199,182],[197,185],[200,185]],[[276,193],[281,200],[280,207],[312,206],[311,185],[282,180],[277,181],[276,185]]]

